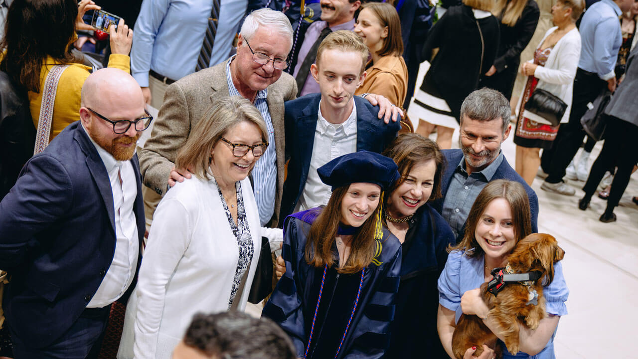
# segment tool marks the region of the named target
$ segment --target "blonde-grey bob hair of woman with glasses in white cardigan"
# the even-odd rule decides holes
[[[229,96],[214,103],[191,130],[177,153],[175,167],[188,169],[200,179],[211,179],[211,153],[217,142],[242,121],[254,123],[267,142],[268,130],[262,114],[246,98]]]

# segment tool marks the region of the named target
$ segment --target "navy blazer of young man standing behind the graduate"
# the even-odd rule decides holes
[[[285,103],[286,161],[289,162],[283,185],[279,227],[286,216],[295,210],[306,186],[320,100],[321,94],[313,93]],[[377,106],[359,96],[354,96],[354,100],[357,106],[357,151],[381,153],[396,137],[401,123],[390,121],[386,124],[378,118]]]

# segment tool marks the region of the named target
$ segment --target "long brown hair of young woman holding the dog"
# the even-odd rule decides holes
[[[503,198],[510,204],[512,210],[512,224],[514,225],[514,236],[516,242],[531,234],[530,198],[525,192],[521,183],[508,181],[507,179],[496,179],[487,183],[480,192],[472,208],[468,220],[465,224],[465,235],[463,240],[455,246],[450,245],[448,252],[452,250],[464,250],[468,257],[482,256],[483,249],[477,243],[475,232],[480,217],[485,212],[487,206],[494,199]]]

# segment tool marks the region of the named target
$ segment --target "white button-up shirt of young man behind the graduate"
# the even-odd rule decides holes
[[[295,212],[328,204],[332,190],[330,190],[329,185],[321,181],[317,169],[339,156],[357,152],[357,106],[354,101],[352,102],[352,112],[344,123],[329,123],[321,113],[321,101],[318,111],[319,116],[315,128],[315,142],[313,143],[308,178]]]

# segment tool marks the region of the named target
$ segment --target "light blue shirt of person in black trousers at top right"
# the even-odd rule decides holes
[[[590,6],[582,15],[581,59],[578,67],[597,73],[603,80],[616,76],[614,67],[618,50],[623,43],[620,31],[620,8],[611,0],[601,0]]]

